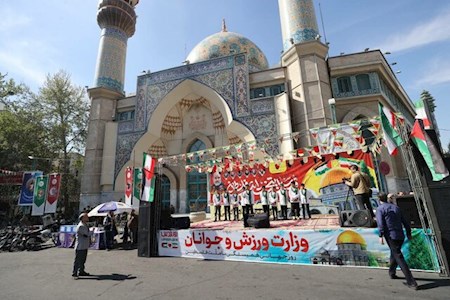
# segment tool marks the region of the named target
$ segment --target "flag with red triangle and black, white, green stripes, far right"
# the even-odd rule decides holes
[[[440,181],[448,176],[448,170],[442,160],[440,152],[437,150],[433,141],[430,139],[423,125],[416,120],[411,131],[411,139],[422,154],[425,163],[430,169],[433,181]]]

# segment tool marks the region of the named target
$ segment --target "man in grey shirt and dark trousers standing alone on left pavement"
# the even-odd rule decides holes
[[[78,219],[80,223],[76,229],[76,242],[75,242],[75,261],[73,262],[72,277],[78,279],[78,276],[89,276],[84,270],[84,264],[86,263],[87,251],[89,248],[89,242],[91,239],[91,232],[87,222],[89,217],[87,213],[82,213]]]

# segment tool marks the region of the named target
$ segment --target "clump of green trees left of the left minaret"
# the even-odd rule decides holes
[[[14,94],[14,95],[11,95]],[[89,104],[84,88],[59,71],[48,75],[38,94],[0,73],[0,168],[62,173],[61,197],[79,197],[79,153],[84,151]],[[78,156],[77,156],[78,155]],[[29,159],[29,156],[34,159]],[[70,212],[66,211],[67,214]]]

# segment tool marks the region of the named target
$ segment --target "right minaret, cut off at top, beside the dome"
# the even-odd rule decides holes
[[[292,130],[304,132],[330,124],[328,46],[320,41],[313,0],[278,0],[278,5],[283,36],[281,65],[290,84]],[[311,145],[310,139],[302,135],[299,143]]]

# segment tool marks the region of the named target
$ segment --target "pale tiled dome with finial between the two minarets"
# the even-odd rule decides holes
[[[256,70],[264,70],[269,67],[266,56],[255,43],[240,34],[226,31],[225,26],[221,32],[208,36],[195,46],[187,60],[189,63],[196,63],[244,52],[247,53],[251,67]]]

